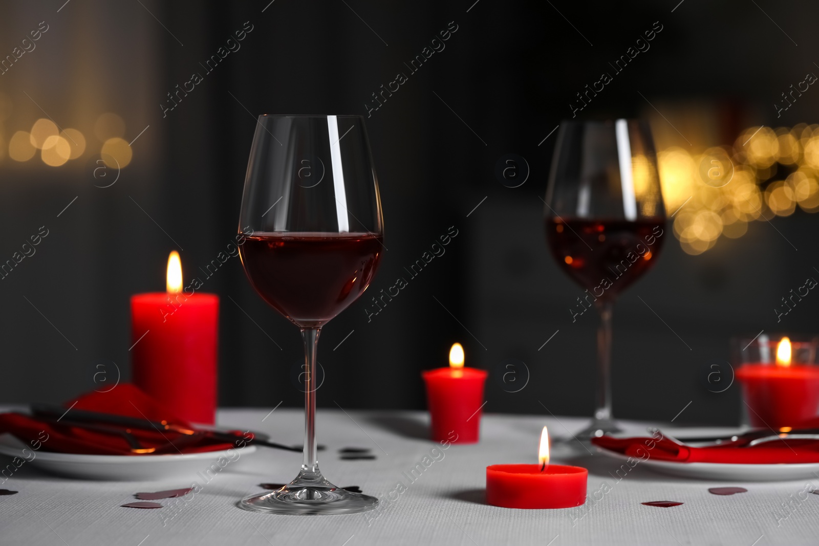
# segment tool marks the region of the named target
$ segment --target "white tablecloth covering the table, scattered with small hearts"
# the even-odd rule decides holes
[[[219,424],[264,431],[285,444],[301,441],[302,413],[296,409],[223,409]],[[260,448],[225,467],[188,502],[155,510],[121,508],[137,491],[192,485],[190,479],[152,482],[75,481],[42,474],[23,465],[2,487],[18,494],[0,496],[2,546],[105,544],[817,544],[819,494],[800,494],[807,481],[725,483],[663,476],[638,464],[618,481],[616,461],[591,455],[573,440],[554,462],[589,469],[589,500],[563,510],[511,510],[484,502],[485,467],[536,462],[541,428],[554,436],[586,424],[577,417],[484,415],[480,444],[432,451],[428,417],[420,412],[319,409],[318,439],[327,450],[319,463],[330,481],[358,485],[381,499],[376,511],[344,516],[278,516],[246,512],[238,499],[260,493],[261,482],[286,482],[301,464],[300,453]],[[646,423],[627,423],[637,434]],[[670,431],[671,429],[669,429]],[[338,449],[370,448],[376,460],[342,460]],[[440,446],[439,446],[440,447]],[[570,452],[577,451],[579,454]],[[408,476],[429,457],[423,473]],[[2,465],[7,461],[2,459]],[[429,461],[432,460],[430,464]],[[421,466],[423,467],[423,465]],[[402,486],[396,489],[401,483]],[[607,494],[592,495],[607,484]],[[819,481],[812,482],[819,488]],[[748,493],[717,496],[709,487],[738,485]],[[400,494],[391,491],[403,490]],[[806,498],[807,497],[807,498]],[[167,503],[169,500],[159,501]],[[682,502],[653,508],[652,500]]]

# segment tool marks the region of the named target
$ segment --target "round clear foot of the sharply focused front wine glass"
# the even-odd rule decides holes
[[[239,508],[269,514],[319,515],[354,514],[378,506],[378,499],[352,493],[335,485],[285,485],[280,490],[259,494],[238,503]]]

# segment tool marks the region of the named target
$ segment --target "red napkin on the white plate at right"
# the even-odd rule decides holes
[[[772,433],[771,433],[772,434]],[[695,448],[663,438],[613,438],[600,436],[591,443],[627,457],[676,463],[776,464],[819,463],[819,440],[776,440],[743,448],[710,445]]]

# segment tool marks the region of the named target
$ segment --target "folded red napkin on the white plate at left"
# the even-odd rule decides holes
[[[74,404],[73,408],[72,404]],[[170,424],[193,429],[188,422],[171,415],[155,399],[129,383],[120,383],[115,389],[108,392],[93,391],[78,399],[69,400],[64,406],[66,409],[84,409],[97,413],[139,417],[145,419],[146,424],[147,421],[161,422],[164,420]],[[70,418],[71,410],[62,417],[61,422],[57,423],[42,421],[38,417],[24,413],[0,413],[0,434],[7,432],[14,435],[18,440],[32,446],[30,449],[57,453],[142,456],[152,454],[133,453],[130,444],[121,435],[88,431],[80,426],[64,426],[63,422],[70,422]],[[125,429],[124,426],[119,428]],[[154,428],[128,430],[140,444],[143,444],[144,448],[156,448],[156,454],[201,453],[243,445],[241,432],[237,437],[238,442],[234,445],[225,443],[224,440],[212,439],[207,435],[184,435],[174,431],[157,431]]]

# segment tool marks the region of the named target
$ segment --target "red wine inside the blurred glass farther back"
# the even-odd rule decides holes
[[[657,263],[664,218],[545,220],[555,261],[595,299],[613,300]]]

